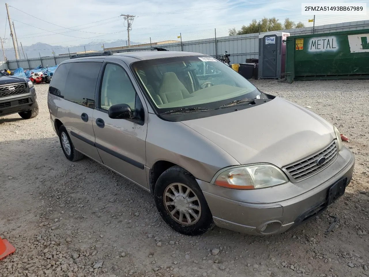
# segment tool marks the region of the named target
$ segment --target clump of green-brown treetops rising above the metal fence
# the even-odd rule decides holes
[[[263,17],[259,22],[253,19],[249,25],[242,25],[241,30],[236,30],[232,28],[228,30],[229,35],[243,35],[243,34],[253,34],[253,33],[263,33],[268,31],[280,31],[289,30],[294,28],[303,28],[304,23],[299,22],[295,24],[288,17],[284,19],[284,24],[279,22],[275,17],[267,18]]]

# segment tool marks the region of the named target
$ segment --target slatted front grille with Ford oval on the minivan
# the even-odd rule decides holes
[[[325,161],[318,164],[317,161],[325,157]],[[305,160],[287,166],[285,169],[295,180],[301,180],[322,170],[337,157],[337,146],[335,140],[318,154],[311,155]]]

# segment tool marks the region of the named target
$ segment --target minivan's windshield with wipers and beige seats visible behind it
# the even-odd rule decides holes
[[[161,113],[217,107],[237,99],[263,98],[261,92],[229,66],[206,56],[139,61],[132,68]]]

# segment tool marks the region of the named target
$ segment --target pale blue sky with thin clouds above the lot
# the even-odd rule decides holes
[[[127,23],[121,14],[135,15],[131,41],[153,42],[165,40],[196,40],[228,34],[230,28],[239,29],[253,18],[276,17],[301,21],[306,27],[313,16],[301,15],[301,3],[332,1],[299,0],[0,0],[0,37],[6,38],[4,48],[12,47],[5,3],[9,5],[18,42],[32,45],[42,42],[50,45],[72,46],[99,41],[127,39]],[[333,3],[352,3],[334,1]],[[368,1],[355,0],[355,3]],[[39,7],[38,7],[39,5]],[[357,20],[366,16],[316,16],[315,25]],[[4,36],[5,35],[5,36]]]

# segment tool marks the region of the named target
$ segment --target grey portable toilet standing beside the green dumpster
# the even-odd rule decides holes
[[[259,35],[259,78],[281,78],[286,60],[286,38],[289,35],[275,31]]]

